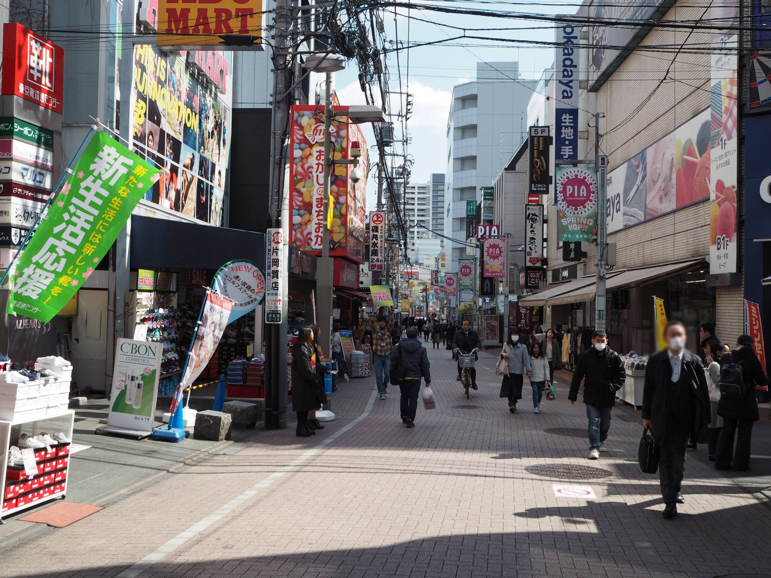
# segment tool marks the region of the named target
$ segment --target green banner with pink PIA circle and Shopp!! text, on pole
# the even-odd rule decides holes
[[[597,169],[561,166],[554,190],[560,240],[591,240],[597,234]]]

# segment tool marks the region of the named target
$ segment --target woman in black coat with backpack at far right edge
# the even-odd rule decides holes
[[[755,387],[764,387],[768,383],[760,360],[752,348],[752,338],[749,335],[739,335],[736,349],[729,355],[723,355],[723,364],[738,363],[742,366],[742,377],[747,388],[741,398],[720,396],[718,415],[723,418],[722,429],[715,450],[715,469],[729,469],[733,452],[733,436],[736,432],[736,455],[733,459],[733,469],[745,472],[749,469],[749,445],[752,442],[752,424],[760,418],[758,402],[755,397]]]

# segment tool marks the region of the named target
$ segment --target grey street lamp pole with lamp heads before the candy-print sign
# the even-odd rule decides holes
[[[351,159],[332,158],[332,72],[339,72],[345,69],[345,59],[340,56],[322,54],[311,55],[305,59],[304,65],[308,70],[314,70],[325,73],[325,99],[324,99],[324,208],[322,218],[322,258],[318,260],[316,276],[316,292],[318,294],[317,311],[318,318],[316,324],[322,328],[322,351],[332,355],[332,287],[334,277],[334,264],[329,258],[329,229],[327,226],[327,215],[329,213],[329,191],[332,185],[332,165],[352,164],[355,170],[352,171],[351,180],[362,178],[361,170],[358,169],[359,157],[362,156],[359,147],[352,146]],[[383,123],[385,115],[377,106],[370,105],[352,105],[348,107],[348,122],[352,124],[359,123]],[[353,145],[353,143],[352,143]]]

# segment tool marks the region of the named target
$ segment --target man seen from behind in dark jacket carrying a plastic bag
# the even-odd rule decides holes
[[[420,378],[426,380],[426,387],[431,385],[431,364],[426,348],[420,343],[418,328],[407,328],[407,338],[391,351],[391,375],[396,375],[396,368],[402,368],[399,389],[402,392],[402,423],[408,428],[415,427],[415,414],[418,411],[418,393]]]

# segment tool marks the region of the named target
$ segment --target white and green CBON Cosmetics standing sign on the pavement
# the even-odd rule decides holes
[[[163,344],[120,338],[107,424],[150,434],[155,421]]]

